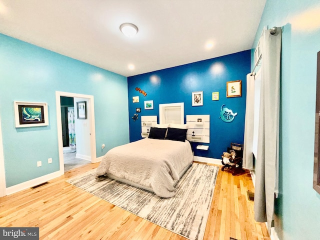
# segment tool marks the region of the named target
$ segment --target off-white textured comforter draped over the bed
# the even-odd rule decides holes
[[[111,173],[151,188],[161,197],[174,196],[180,172],[190,165],[193,155],[186,140],[144,138],[110,149],[96,169],[96,175]]]

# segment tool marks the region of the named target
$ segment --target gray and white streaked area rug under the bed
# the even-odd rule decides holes
[[[67,182],[188,239],[203,239],[218,167],[193,163],[176,185],[175,196],[162,198],[107,177],[95,169]]]

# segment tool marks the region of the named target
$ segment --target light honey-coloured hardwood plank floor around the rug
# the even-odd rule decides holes
[[[0,226],[37,226],[40,239],[186,239],[65,182],[98,164],[0,197]],[[270,239],[265,224],[253,219],[247,190],[254,192],[249,173],[232,176],[219,170],[204,239]]]

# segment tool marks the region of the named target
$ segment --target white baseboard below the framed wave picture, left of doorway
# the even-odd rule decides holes
[[[46,182],[46,181],[49,181],[49,180],[51,180],[53,178],[56,178],[58,176],[63,175],[63,173],[61,174],[61,171],[55,171],[55,172],[46,174],[44,176],[40,176],[40,177],[31,179],[31,180],[28,180],[28,181],[13,185],[13,186],[6,187],[5,188],[5,193],[6,193],[6,195],[10,195],[12,193],[24,190],[24,189],[32,187],[32,186],[39,185],[39,184],[41,184],[43,182]]]

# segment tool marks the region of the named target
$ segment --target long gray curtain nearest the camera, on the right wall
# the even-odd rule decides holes
[[[255,161],[254,218],[270,232],[277,184],[281,28],[263,30],[261,92]]]

